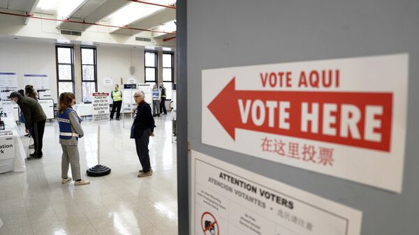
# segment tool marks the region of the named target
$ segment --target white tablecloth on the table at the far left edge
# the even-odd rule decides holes
[[[20,139],[13,117],[3,117],[6,130],[11,130],[13,135],[0,135],[0,173],[15,171],[24,172],[26,164],[24,158],[26,153],[23,149],[22,139]]]

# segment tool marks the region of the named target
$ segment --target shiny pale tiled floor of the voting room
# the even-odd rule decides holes
[[[138,178],[140,162],[131,120],[101,125],[101,164],[112,169],[103,177],[87,177],[96,165],[97,126],[82,123],[79,141],[82,178],[89,185],[61,184],[61,146],[57,122],[45,125],[44,157],[27,161],[27,172],[0,174],[1,235],[30,234],[177,234],[176,145],[170,114],[156,117],[150,138],[154,173]],[[22,137],[27,154],[28,137]],[[31,144],[31,143],[30,143]],[[69,172],[71,176],[71,172]]]

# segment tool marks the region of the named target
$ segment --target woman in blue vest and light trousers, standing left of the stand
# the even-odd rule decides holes
[[[61,160],[61,183],[71,181],[68,177],[68,165],[71,165],[74,185],[85,185],[90,182],[82,179],[80,174],[80,162],[78,153],[78,138],[83,137],[84,132],[80,123],[82,119],[72,109],[75,105],[75,96],[71,92],[59,95],[59,107],[57,121],[59,123],[59,143],[63,149]]]

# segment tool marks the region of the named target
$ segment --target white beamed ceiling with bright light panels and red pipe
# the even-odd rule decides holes
[[[0,0],[0,12],[54,19],[58,30],[83,33],[100,25],[111,35],[151,31],[153,38],[167,41],[175,40],[175,4],[175,0]],[[38,20],[23,18],[22,24]]]

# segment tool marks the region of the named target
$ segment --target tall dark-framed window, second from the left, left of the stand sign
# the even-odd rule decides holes
[[[91,93],[97,91],[96,48],[81,47],[82,54],[82,101],[91,102]]]

